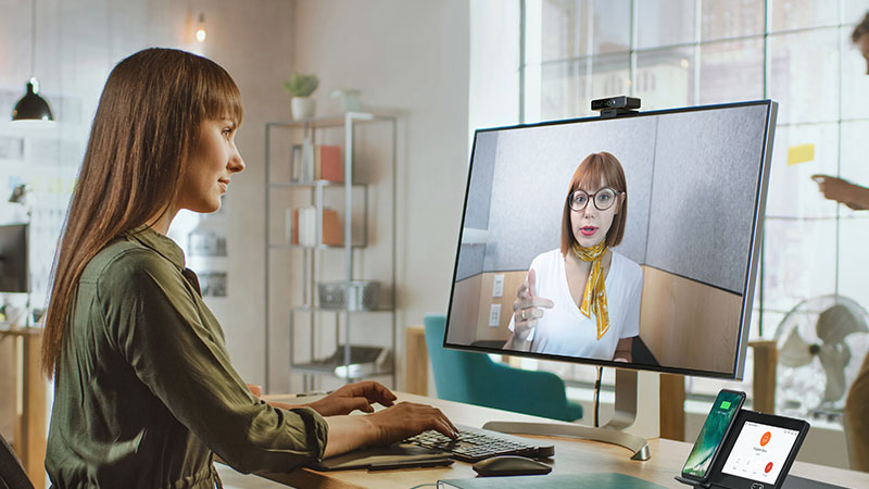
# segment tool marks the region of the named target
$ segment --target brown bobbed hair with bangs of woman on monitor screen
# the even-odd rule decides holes
[[[613,218],[613,225],[606,233],[606,246],[615,247],[625,236],[625,224],[628,222],[628,183],[625,180],[625,171],[618,159],[606,151],[591,153],[582,160],[570,179],[570,189],[564,200],[562,214],[562,254],[567,254],[576,242],[574,226],[570,224],[570,195],[579,188],[596,188],[603,179],[604,187],[609,187],[617,192],[624,192],[618,213]],[[589,202],[589,205],[593,205]],[[618,204],[617,204],[618,205]]]

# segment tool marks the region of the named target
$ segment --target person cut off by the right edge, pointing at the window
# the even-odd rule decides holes
[[[866,59],[866,74],[869,75],[869,12],[854,28],[851,40]],[[811,178],[818,183],[823,197],[857,211],[869,210],[869,188],[829,175],[813,175]],[[869,472],[869,355],[851,385],[843,414],[851,468]]]

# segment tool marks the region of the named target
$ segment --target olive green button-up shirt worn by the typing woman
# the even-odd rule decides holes
[[[85,268],[56,365],[46,468],[56,488],[214,488],[319,459],[315,411],[274,409],[232,368],[184,252],[148,227]]]

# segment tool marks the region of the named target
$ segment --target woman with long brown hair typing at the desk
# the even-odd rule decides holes
[[[244,170],[241,120],[236,84],[205,58],[148,49],[110,74],[46,318],[54,487],[214,488],[215,453],[241,472],[286,472],[426,429],[456,436],[440,411],[393,405],[377,383],[306,406],[270,405],[232,368],[196,274],[165,235],[181,209],[219,209]],[[390,408],[347,416],[373,403]]]

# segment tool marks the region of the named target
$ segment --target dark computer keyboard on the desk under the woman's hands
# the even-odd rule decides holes
[[[450,452],[453,459],[471,463],[496,455],[546,459],[555,454],[555,447],[552,444],[537,446],[531,442],[533,440],[470,426],[457,425],[456,428],[458,428],[457,440],[430,429],[411,437],[404,442]]]

